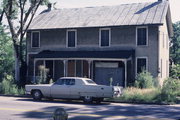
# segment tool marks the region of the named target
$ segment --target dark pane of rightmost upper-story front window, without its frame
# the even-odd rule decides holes
[[[138,28],[137,31],[137,44],[138,45],[146,45],[147,41],[147,29],[146,28]]]

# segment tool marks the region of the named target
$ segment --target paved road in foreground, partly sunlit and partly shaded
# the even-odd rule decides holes
[[[53,120],[55,109],[64,108],[68,120],[180,120],[180,105],[108,103],[42,100],[0,96],[0,120]]]

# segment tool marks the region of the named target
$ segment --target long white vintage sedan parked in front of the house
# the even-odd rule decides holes
[[[100,103],[104,98],[117,97],[121,94],[121,87],[97,85],[91,79],[79,77],[63,77],[53,84],[26,85],[25,89],[34,100],[41,100],[44,97]]]

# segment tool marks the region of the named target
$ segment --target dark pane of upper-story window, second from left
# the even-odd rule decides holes
[[[68,47],[75,47],[75,31],[68,31]]]

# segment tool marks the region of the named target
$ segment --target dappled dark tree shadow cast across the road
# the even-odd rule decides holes
[[[32,99],[18,99],[19,101],[33,101]],[[53,111],[59,107],[64,108],[68,114],[68,120],[102,120],[103,118],[117,118],[125,116],[134,119],[138,116],[180,119],[180,107],[169,105],[131,105],[131,104],[83,104],[81,101],[47,101],[41,103],[62,103],[58,106],[44,107],[37,111],[28,111],[21,114],[24,118],[36,118],[52,120]],[[68,105],[65,106],[64,104]],[[71,105],[72,104],[72,105]],[[64,105],[64,106],[63,106]],[[141,118],[143,119],[143,118]],[[117,119],[116,119],[117,120]]]

